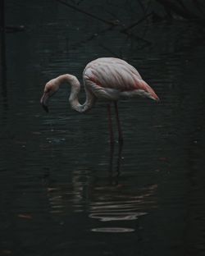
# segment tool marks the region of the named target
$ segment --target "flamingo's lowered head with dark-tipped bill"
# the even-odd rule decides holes
[[[51,98],[52,95],[55,94],[58,89],[59,83],[56,79],[48,81],[48,83],[45,85],[43,96],[40,100],[40,103],[46,112],[48,112],[48,99]]]

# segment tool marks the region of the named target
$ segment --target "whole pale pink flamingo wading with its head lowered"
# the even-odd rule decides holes
[[[78,94],[80,93],[80,82],[75,75],[65,74],[49,80],[44,87],[43,96],[40,100],[44,110],[48,112],[48,99],[57,92],[59,86],[68,83],[71,85],[69,102],[75,111],[84,113],[93,107],[96,99],[107,100],[108,124],[110,141],[113,143],[111,103],[114,103],[116,123],[118,129],[118,141],[122,144],[123,136],[121,122],[118,114],[117,101],[119,98],[133,98],[142,96],[159,101],[157,94],[142,79],[139,72],[129,63],[114,57],[101,57],[85,66],[83,71],[84,89],[86,100],[80,104]]]

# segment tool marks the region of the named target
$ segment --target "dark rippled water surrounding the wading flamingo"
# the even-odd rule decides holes
[[[0,255],[204,255],[202,27],[145,22],[127,37],[49,1],[8,2],[7,23],[26,30],[7,34],[1,73]],[[121,101],[114,153],[103,103],[80,115],[64,86],[49,114],[39,106],[47,80],[80,78],[105,56],[130,62],[161,98]]]

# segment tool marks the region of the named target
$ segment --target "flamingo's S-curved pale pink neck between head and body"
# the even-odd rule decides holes
[[[78,94],[80,93],[80,81],[75,77],[75,75],[60,75],[56,78],[59,80],[60,84],[68,83],[71,85],[71,94],[69,97],[69,102],[71,107],[77,112],[87,112],[91,107],[93,107],[93,103],[95,101],[95,97],[91,94],[86,88],[86,100],[84,104],[80,104],[78,99]]]

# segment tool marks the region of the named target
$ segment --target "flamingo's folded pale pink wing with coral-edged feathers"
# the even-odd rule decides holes
[[[98,58],[84,69],[84,79],[103,88],[130,92],[144,90],[153,99],[158,99],[153,89],[142,79],[139,72],[127,62],[117,58]]]

